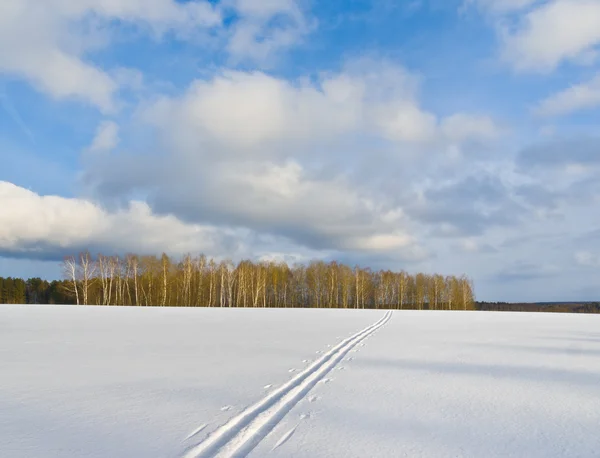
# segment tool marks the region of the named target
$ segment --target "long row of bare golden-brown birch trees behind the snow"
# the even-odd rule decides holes
[[[63,262],[76,304],[207,307],[473,309],[470,279],[351,268],[335,261],[308,265],[204,255],[174,261],[80,253]]]

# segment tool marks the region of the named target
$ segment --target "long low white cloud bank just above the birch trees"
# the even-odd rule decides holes
[[[82,250],[105,254],[167,252],[174,256],[202,252],[216,258],[240,260],[250,256],[289,262],[336,257],[335,253],[340,253],[336,250],[359,255],[382,253],[411,262],[427,256],[401,230],[378,233],[377,228],[369,231],[368,223],[363,230],[331,224],[330,219],[313,229],[335,235],[339,242],[311,247],[310,243],[265,231],[186,222],[173,214],[156,213],[143,201],[129,201],[108,210],[87,199],[39,195],[0,182],[0,257],[58,261]]]

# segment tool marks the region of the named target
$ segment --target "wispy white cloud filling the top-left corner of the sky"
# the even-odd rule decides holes
[[[104,112],[115,109],[118,83],[85,59],[102,44],[102,21],[121,20],[160,33],[219,23],[207,2],[174,0],[20,0],[0,3],[0,72],[29,81],[56,99],[75,98]],[[85,22],[88,27],[76,27]],[[84,32],[83,30],[87,30]]]

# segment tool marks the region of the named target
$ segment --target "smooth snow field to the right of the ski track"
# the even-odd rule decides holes
[[[395,312],[350,355],[251,456],[600,456],[600,316]]]

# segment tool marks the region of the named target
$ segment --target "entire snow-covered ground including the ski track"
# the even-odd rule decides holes
[[[0,456],[595,457],[600,316],[0,306]]]

